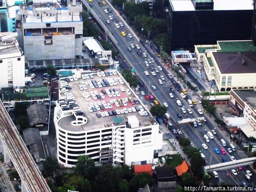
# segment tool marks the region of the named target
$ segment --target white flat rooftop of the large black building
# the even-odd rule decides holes
[[[204,0],[204,2],[212,2]],[[253,10],[252,0],[213,0],[213,10]],[[195,11],[192,0],[170,0],[174,11]]]

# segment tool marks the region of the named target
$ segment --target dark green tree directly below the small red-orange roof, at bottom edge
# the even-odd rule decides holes
[[[148,173],[136,174],[129,182],[130,191],[138,191],[138,188],[143,188],[146,184],[152,185],[153,179]]]

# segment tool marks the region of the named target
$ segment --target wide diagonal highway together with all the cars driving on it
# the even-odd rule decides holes
[[[212,119],[199,107],[200,96],[195,99],[196,93],[182,88],[181,82],[179,83],[174,79],[159,61],[159,58],[148,50],[149,48],[145,46],[144,42],[136,42],[132,32],[126,28],[126,24],[108,5],[109,2],[104,1],[105,4],[99,0],[92,2],[83,0],[82,2],[90,4],[91,9],[107,26],[109,32],[118,42],[118,49],[125,54],[130,67],[135,69],[139,81],[143,82],[143,86],[140,85],[138,92],[142,102],[150,107],[156,104],[154,101],[156,100],[168,108],[167,112],[170,119],[166,119],[174,126],[162,130],[167,138],[188,137],[193,147],[200,148],[207,165],[247,158],[244,152],[236,149],[230,142],[229,135],[226,135],[218,127],[216,128]],[[204,120],[177,124],[182,119],[199,117],[204,117]],[[256,183],[255,172],[251,166],[221,170],[217,171],[217,174],[218,177],[211,173],[213,184],[220,184],[220,182],[229,184]]]

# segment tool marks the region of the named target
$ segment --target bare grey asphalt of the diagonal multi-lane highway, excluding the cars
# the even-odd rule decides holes
[[[82,2],[87,3],[86,1],[82,1]],[[121,34],[121,32],[126,32],[126,34],[129,34],[131,32],[128,31],[125,25],[121,27],[119,24],[120,27],[119,28],[116,27],[116,23],[120,23],[121,21],[119,17],[114,14],[114,10],[112,10],[111,13],[106,13],[104,12],[104,10],[107,8],[111,9],[111,7],[108,6],[108,4],[105,6],[104,5],[99,6],[98,2],[101,2],[101,1],[95,0],[91,3],[93,11],[99,16],[98,19],[100,19],[106,25],[109,32],[114,36],[115,40],[118,42],[118,49],[125,54],[125,58],[127,62],[132,66],[132,68],[136,69],[136,73],[138,74],[138,77],[140,78],[140,80],[144,82],[145,92],[147,93],[147,90],[149,89],[150,92],[157,98],[157,100],[160,103],[166,102],[168,104],[168,113],[172,118],[172,122],[176,123],[178,120],[181,120],[177,116],[177,113],[182,114],[182,112],[180,110],[180,107],[177,106],[176,104],[176,98],[178,98],[182,102],[182,106],[186,110],[187,109],[192,110],[192,114],[188,114],[187,112],[186,115],[182,114],[182,118],[196,118],[198,116],[204,116],[204,115],[198,114],[197,106],[194,106],[191,108],[187,103],[187,99],[186,98],[184,99],[180,96],[180,92],[178,92],[172,85],[171,81],[174,81],[174,80],[170,79],[167,76],[168,71],[163,66],[160,72],[156,72],[155,68],[158,68],[158,66],[161,66],[161,64],[160,62],[158,62],[154,54],[148,53],[146,49],[142,46],[142,44],[140,44],[139,42],[136,42],[135,38],[133,37],[130,38],[128,35],[123,36]],[[112,20],[110,19],[109,16],[112,17]],[[108,24],[106,20],[109,20],[110,24]],[[140,46],[140,49],[136,48],[136,46],[132,48],[131,44],[134,44],[134,45],[138,44]],[[131,48],[132,51],[129,51],[128,47]],[[137,54],[138,51],[148,54],[148,58],[154,58],[155,63],[151,63],[149,64],[149,66],[146,66],[145,64],[146,58],[142,56],[138,56]],[[150,72],[151,70],[154,70],[154,72],[156,72],[156,76],[153,76],[151,74]],[[146,75],[144,71],[148,71],[149,75]],[[158,83],[158,79],[160,79],[160,75],[164,76],[165,78],[165,80],[163,81],[164,82],[163,85],[160,85]],[[156,90],[153,90],[151,86],[155,86]],[[168,96],[168,93],[170,92],[170,88],[174,88],[175,90],[173,99],[171,99]],[[204,134],[206,134],[206,132],[208,132],[209,130],[214,129],[214,124],[212,124],[209,118],[206,117],[206,119],[207,121],[202,126],[198,126],[197,128],[192,127],[190,124],[181,125],[181,130],[184,132],[186,136],[188,136],[188,138],[190,138],[193,145],[196,148],[201,148],[202,153],[204,153],[204,155],[206,156],[206,163],[210,164],[210,159],[211,159],[211,164],[217,164],[222,162],[222,158],[226,158],[228,161],[231,161],[230,159],[231,155],[234,156],[236,159],[244,158],[240,152],[233,152],[231,154],[229,153],[216,154],[214,152],[213,150],[214,148],[218,148],[220,150],[220,148],[223,148],[223,147],[220,143],[220,140],[216,136],[213,140],[210,141],[210,143],[205,142],[203,137]],[[221,133],[222,131],[218,129],[216,129],[216,132],[218,135],[220,135],[221,138],[223,138],[227,142],[227,145],[228,145],[229,144],[228,137],[223,135]],[[208,149],[206,150],[203,149],[202,143],[206,143],[208,145]],[[238,168],[234,168],[234,169],[238,169]],[[218,171],[218,174],[221,180],[224,182],[228,182],[230,184],[241,184],[242,181],[246,181],[246,178],[245,178],[246,170],[250,170],[252,174],[255,174],[255,172],[250,167],[244,167],[244,170],[240,170],[240,173],[237,176],[232,175],[230,170]],[[228,174],[229,176],[227,177],[226,174]],[[253,176],[251,178],[252,178],[251,183],[255,183],[256,182],[255,177]],[[213,183],[217,184],[218,182],[219,181],[217,179],[213,180]],[[249,183],[248,181],[246,182]]]

